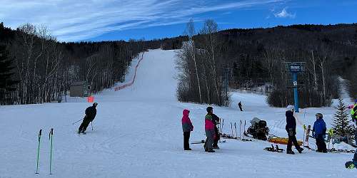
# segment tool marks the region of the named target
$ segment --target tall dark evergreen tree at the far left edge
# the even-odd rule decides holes
[[[9,60],[9,51],[6,51],[6,46],[0,45],[0,103],[6,104],[6,94],[16,90],[14,85],[18,81],[11,78],[14,73],[11,70],[14,69],[12,66],[12,60]]]

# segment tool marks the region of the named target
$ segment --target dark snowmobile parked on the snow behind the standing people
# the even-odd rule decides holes
[[[266,121],[253,117],[251,126],[248,127],[246,134],[252,135],[253,138],[258,140],[267,140],[266,136],[269,134],[269,128],[266,126]]]

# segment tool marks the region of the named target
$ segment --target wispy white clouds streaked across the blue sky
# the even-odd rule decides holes
[[[283,0],[0,0],[0,21],[44,24],[60,41],[80,41],[111,31],[186,23],[212,11],[253,8]],[[292,16],[285,9],[276,16]],[[293,15],[295,16],[295,15]]]

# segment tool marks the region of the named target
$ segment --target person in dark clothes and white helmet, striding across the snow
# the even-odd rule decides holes
[[[295,145],[296,150],[298,150],[299,153],[303,151],[303,148],[298,145],[298,141],[296,140],[296,120],[295,117],[293,117],[293,105],[288,105],[286,107],[286,132],[288,132],[288,146],[286,148],[286,153],[287,154],[295,154],[291,147]]]

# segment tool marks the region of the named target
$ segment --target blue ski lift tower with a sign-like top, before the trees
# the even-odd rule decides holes
[[[295,112],[298,111],[298,74],[304,72],[305,62],[284,62],[287,73],[291,73],[293,86],[289,88],[293,88],[293,98],[294,98],[294,106]]]

